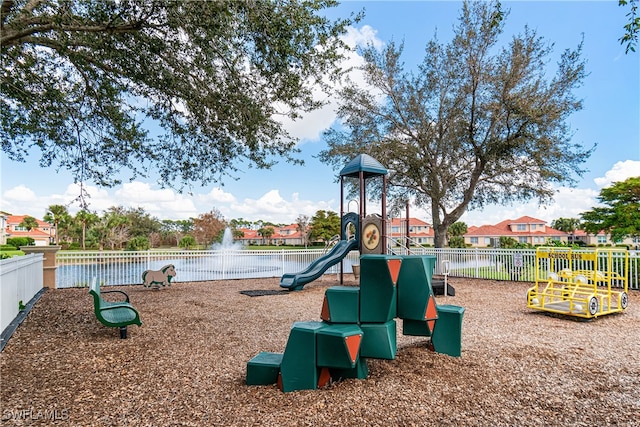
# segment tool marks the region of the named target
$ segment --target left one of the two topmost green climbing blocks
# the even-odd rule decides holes
[[[401,260],[390,255],[360,257],[360,321],[384,323],[396,317],[396,283],[388,261]]]

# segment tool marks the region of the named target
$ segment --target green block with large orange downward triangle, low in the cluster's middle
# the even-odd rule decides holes
[[[362,335],[362,329],[356,324],[325,323],[316,335],[318,366],[327,368],[355,367]]]

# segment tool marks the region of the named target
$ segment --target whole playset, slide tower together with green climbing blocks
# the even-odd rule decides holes
[[[395,359],[396,317],[402,319],[404,335],[430,337],[433,350],[461,355],[464,308],[436,304],[436,257],[386,254],[386,175],[387,170],[366,154],[340,171],[340,240],[306,269],[283,275],[280,286],[301,290],[356,249],[361,254],[359,286],[328,288],[322,320],[295,322],[284,353],[260,352],[249,360],[248,385],[277,383],[289,392],[317,389],[342,378],[364,379],[369,375],[367,358]],[[382,214],[368,215],[366,180],[376,177],[382,177]],[[344,211],[346,178],[358,179],[358,213]]]

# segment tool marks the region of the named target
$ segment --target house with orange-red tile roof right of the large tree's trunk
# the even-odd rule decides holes
[[[568,234],[547,226],[541,219],[523,216],[507,219],[494,225],[471,226],[464,235],[464,241],[471,247],[496,247],[500,237],[511,237],[520,243],[544,245],[549,240],[568,242]]]

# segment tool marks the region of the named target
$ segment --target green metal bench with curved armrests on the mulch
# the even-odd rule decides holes
[[[129,295],[124,291],[101,291],[97,278],[93,278],[89,293],[93,296],[93,309],[96,317],[105,326],[120,328],[120,338],[127,338],[127,326],[142,326],[138,311],[129,302]],[[106,301],[102,294],[118,293],[124,295],[124,301]]]

